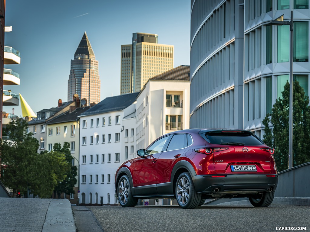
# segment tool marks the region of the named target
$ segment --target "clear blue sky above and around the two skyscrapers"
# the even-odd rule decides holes
[[[174,45],[174,67],[189,65],[190,0],[7,0],[5,45],[20,51],[20,86],[4,86],[21,95],[36,113],[67,101],[70,61],[84,31],[99,61],[101,99],[120,93],[121,45],[132,33],[158,34],[158,43]],[[3,111],[21,116],[21,107]]]

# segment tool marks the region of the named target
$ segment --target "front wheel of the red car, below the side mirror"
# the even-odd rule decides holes
[[[122,207],[135,207],[138,198],[134,198],[131,185],[127,175],[123,175],[117,183],[117,198]]]

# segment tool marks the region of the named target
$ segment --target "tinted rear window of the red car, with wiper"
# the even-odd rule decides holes
[[[264,144],[250,131],[210,131],[201,134],[211,144],[228,146],[259,146]]]

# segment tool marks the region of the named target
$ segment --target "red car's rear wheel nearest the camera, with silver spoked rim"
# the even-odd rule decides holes
[[[188,172],[179,175],[175,185],[175,197],[181,208],[196,208],[201,203],[201,195],[197,194]]]

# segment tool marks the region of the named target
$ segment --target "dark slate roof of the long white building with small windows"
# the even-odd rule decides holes
[[[135,92],[118,95],[115,97],[107,97],[103,101],[100,101],[97,105],[82,113],[81,116],[123,110],[136,100],[138,94],[139,92]]]

